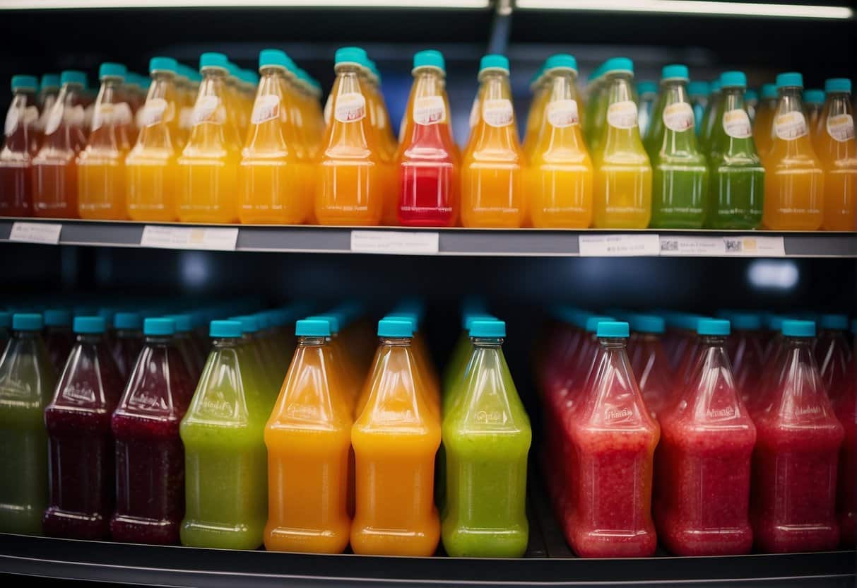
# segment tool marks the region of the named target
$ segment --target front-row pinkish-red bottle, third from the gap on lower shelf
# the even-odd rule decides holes
[[[812,357],[815,323],[782,321],[782,335],[780,369],[754,417],[753,534],[757,548],[769,553],[835,549],[842,424]]]

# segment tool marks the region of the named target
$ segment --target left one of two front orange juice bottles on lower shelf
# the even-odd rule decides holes
[[[265,547],[341,553],[349,541],[350,394],[335,365],[330,322],[297,321],[297,349],[265,427]]]

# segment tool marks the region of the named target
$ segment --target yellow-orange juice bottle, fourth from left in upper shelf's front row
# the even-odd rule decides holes
[[[177,135],[181,108],[172,57],[149,61],[152,84],[137,120],[140,134],[125,159],[128,214],[132,220],[177,220]]]

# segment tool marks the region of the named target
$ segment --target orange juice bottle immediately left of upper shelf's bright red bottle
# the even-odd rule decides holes
[[[315,219],[321,225],[378,225],[384,202],[381,146],[367,111],[370,107],[359,47],[336,51],[330,123],[318,156]]]

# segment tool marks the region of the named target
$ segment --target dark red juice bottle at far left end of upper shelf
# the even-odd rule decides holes
[[[33,75],[12,76],[12,103],[0,149],[0,216],[33,215],[33,156],[39,146],[39,107]]]

